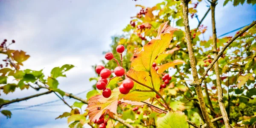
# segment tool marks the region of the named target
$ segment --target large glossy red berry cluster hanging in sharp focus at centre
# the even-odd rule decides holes
[[[113,79],[115,77],[122,77],[125,75],[125,69],[122,67],[122,52],[124,52],[124,51],[125,51],[125,47],[123,45],[118,45],[116,47],[116,52],[121,54],[121,66],[118,63],[118,61],[116,60],[116,58],[114,58],[113,53],[107,52],[105,54],[105,58],[107,60],[113,59],[118,64],[118,67],[116,67],[113,71],[105,68],[102,65],[98,65],[95,69],[96,73],[101,76],[101,78],[96,83],[96,87],[99,90],[103,90],[102,96],[104,96],[105,98],[109,98],[111,96],[111,89],[107,88],[109,81],[111,81],[111,79]],[[108,78],[111,76],[111,73],[114,73],[116,76],[114,76],[108,80]],[[125,76],[125,78],[126,78],[126,76]],[[128,94],[133,87],[134,87],[134,82],[131,79],[126,78],[120,85],[119,91],[122,94]]]

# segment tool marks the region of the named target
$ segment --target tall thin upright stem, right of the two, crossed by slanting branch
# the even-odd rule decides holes
[[[213,38],[213,50],[214,52],[214,58],[217,57],[217,35],[216,35],[216,26],[215,26],[215,6],[216,6],[217,0],[212,0],[211,3],[211,12],[212,12],[212,38]],[[223,94],[222,94],[222,87],[221,87],[221,79],[220,79],[220,73],[219,73],[219,66],[218,66],[218,60],[216,60],[214,64],[214,70],[216,75],[216,84],[217,84],[217,93],[218,93],[218,104],[220,106],[221,114],[225,123],[226,128],[231,128],[229,119],[227,116],[227,111],[225,109],[225,105],[223,102]]]

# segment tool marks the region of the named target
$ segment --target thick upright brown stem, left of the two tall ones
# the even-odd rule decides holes
[[[202,93],[201,84],[199,82],[198,72],[196,69],[195,55],[193,52],[193,46],[192,46],[192,40],[191,40],[190,28],[189,28],[189,17],[188,17],[188,15],[189,15],[188,14],[189,13],[189,9],[188,9],[189,0],[181,0],[181,2],[183,5],[183,19],[184,19],[183,23],[185,26],[185,38],[186,38],[187,47],[188,47],[188,51],[189,51],[189,60],[190,60],[190,66],[192,69],[192,76],[194,79],[192,85],[195,86],[195,91],[198,96],[198,101],[199,101],[199,105],[200,105],[200,108],[201,108],[203,116],[204,116],[204,120],[207,123],[207,126],[209,128],[213,128],[212,122],[210,121],[209,115],[207,113],[207,109],[206,109],[205,102],[204,102],[204,96]]]

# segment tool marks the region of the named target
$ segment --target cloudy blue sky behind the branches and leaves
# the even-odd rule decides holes
[[[101,64],[100,60],[104,58],[102,52],[110,49],[111,36],[122,34],[130,17],[139,12],[140,8],[135,5],[154,6],[161,1],[0,0],[0,41],[5,38],[15,39],[17,43],[12,48],[22,49],[31,55],[24,62],[24,69],[44,69],[44,73],[49,74],[53,67],[75,65],[73,70],[67,72],[67,78],[58,80],[62,90],[76,94],[91,89],[93,83],[89,82],[89,78],[96,76],[91,65]],[[256,20],[256,6],[244,4],[233,7],[229,3],[223,7],[222,2],[216,7],[217,35]],[[207,8],[205,2],[198,5],[199,19]],[[195,28],[197,24],[195,18],[190,19],[191,28]],[[209,38],[210,14],[203,24],[209,28],[205,33],[205,37]],[[33,89],[16,90],[8,95],[1,92],[0,98],[15,99],[35,93],[38,92]],[[85,98],[86,93],[79,96]],[[36,105],[56,99],[58,97],[54,94],[49,94],[12,104],[5,109],[18,108],[14,105]],[[67,102],[72,104],[74,100],[67,99]],[[12,119],[0,115],[0,128],[66,128],[67,120],[55,120],[55,117],[70,109],[62,102],[52,104],[62,105],[31,108],[54,113],[18,110],[12,111]]]

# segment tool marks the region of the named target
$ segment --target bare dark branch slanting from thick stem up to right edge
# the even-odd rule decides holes
[[[206,74],[208,73],[208,71],[212,68],[213,64],[215,64],[215,62],[218,60],[218,58],[221,57],[221,55],[223,54],[223,52],[227,49],[228,46],[230,46],[230,44],[236,40],[236,38],[238,38],[240,35],[242,35],[244,32],[246,32],[248,29],[250,29],[251,27],[253,27],[256,24],[256,21],[253,21],[249,26],[245,27],[239,34],[237,34],[236,36],[234,36],[222,49],[221,51],[218,53],[218,55],[213,59],[212,63],[209,64],[209,66],[207,67],[207,69],[204,71],[203,75],[200,78],[200,82],[202,83]]]

